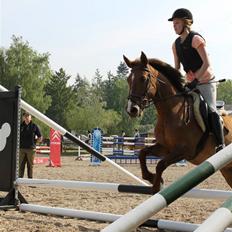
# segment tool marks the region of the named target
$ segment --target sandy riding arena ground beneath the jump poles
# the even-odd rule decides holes
[[[141,177],[139,164],[122,165],[125,169]],[[154,164],[150,166],[154,169]],[[187,173],[194,166],[169,167],[164,173],[165,185]],[[137,184],[136,181],[120,173],[107,162],[101,166],[90,166],[87,160],[76,161],[75,157],[63,157],[61,168],[35,165],[34,178],[82,180]],[[220,173],[214,174],[198,188],[230,190]],[[142,203],[149,196],[139,194],[114,193],[104,191],[83,191],[59,188],[21,187],[20,192],[32,204],[91,210],[113,214],[125,214]],[[5,193],[4,193],[5,194]],[[0,192],[1,196],[4,196]],[[220,200],[198,200],[181,198],[163,209],[154,219],[168,219],[191,223],[201,223],[222,204]],[[98,232],[108,223],[40,215],[16,210],[0,211],[0,231],[88,231]],[[157,231],[151,228],[137,229],[141,232]]]

